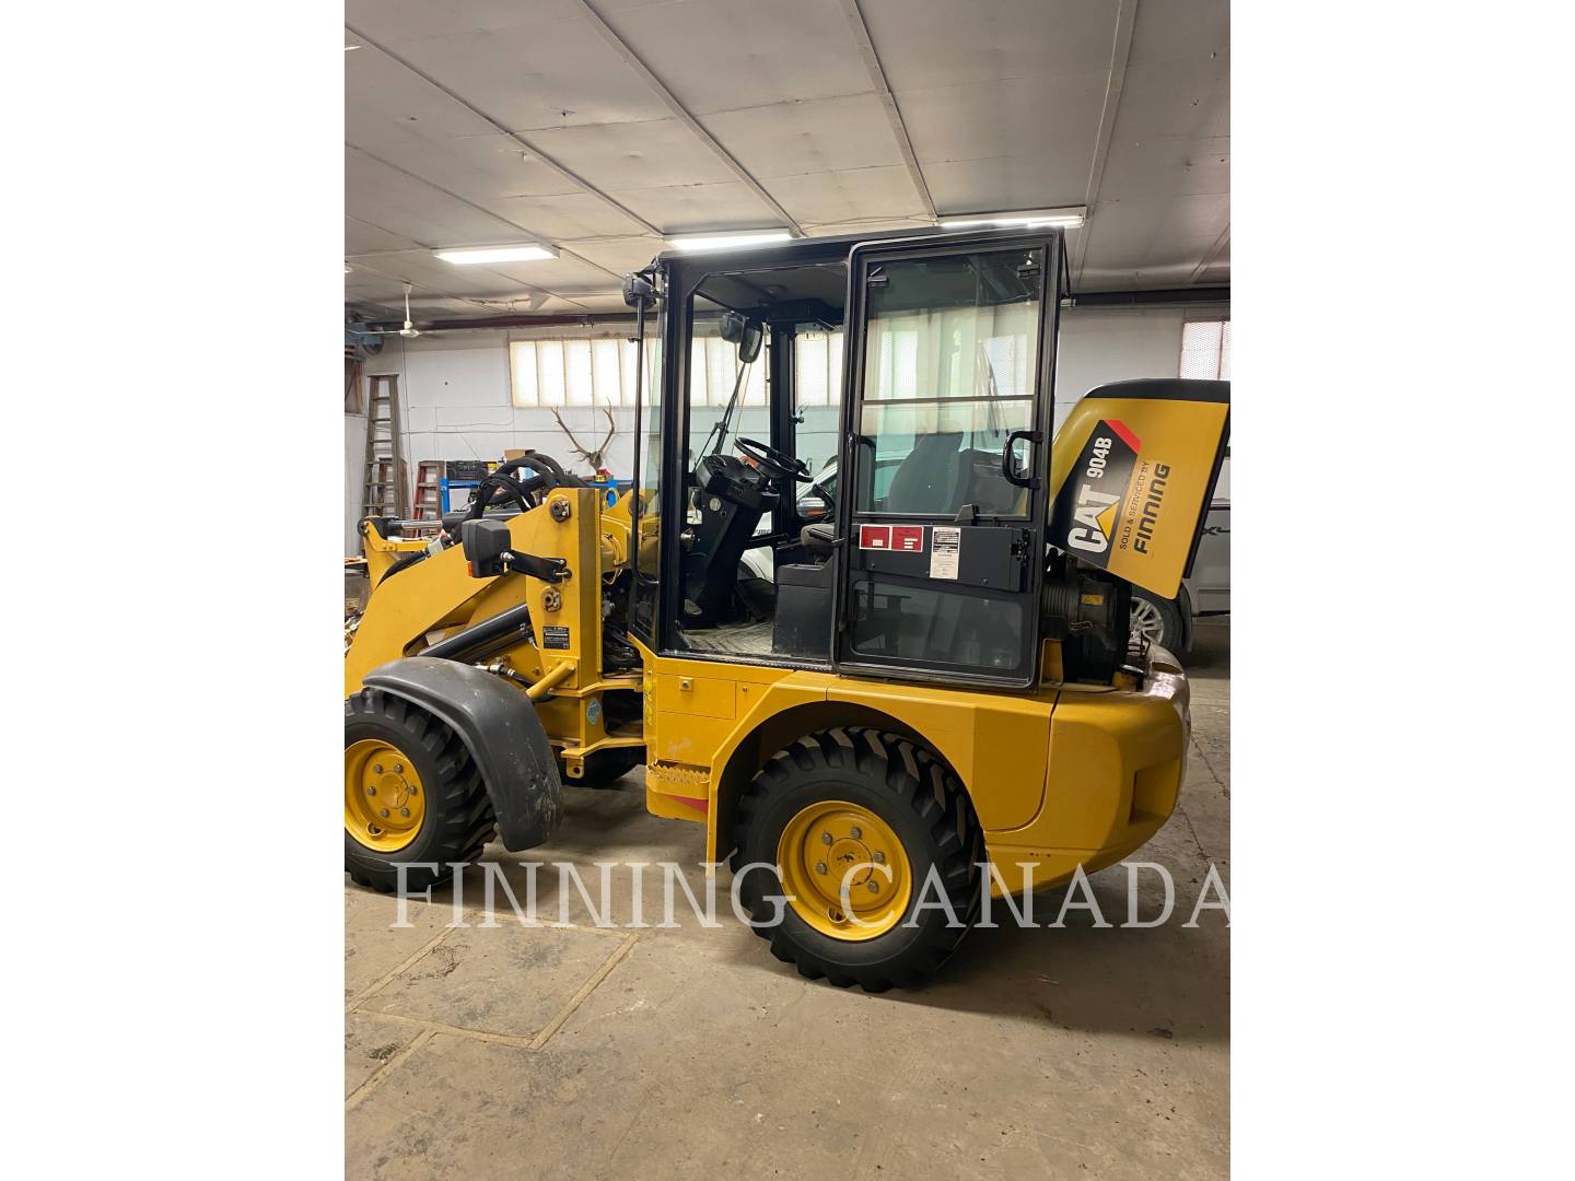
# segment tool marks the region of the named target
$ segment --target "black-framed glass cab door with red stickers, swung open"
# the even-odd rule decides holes
[[[1033,682],[1058,247],[852,252],[838,668]]]

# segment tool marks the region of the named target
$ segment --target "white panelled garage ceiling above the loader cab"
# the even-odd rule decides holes
[[[925,225],[846,0],[589,0],[750,173],[811,231]],[[1080,205],[1098,143],[1115,0],[858,0],[943,214]],[[1080,287],[1228,282],[1227,0],[1143,0]],[[348,0],[372,44],[345,55],[346,298],[421,298],[466,315],[578,293],[622,310],[616,277],[660,238],[532,151],[668,233],[778,214],[676,120],[580,0]],[[348,41],[346,41],[348,44]],[[446,94],[443,88],[454,91]],[[484,115],[469,110],[474,106]],[[521,145],[488,121],[531,140]],[[452,268],[430,246],[536,235],[554,263]],[[1211,258],[1206,269],[1200,269]],[[436,294],[435,294],[436,293]],[[573,307],[573,304],[567,304]],[[455,315],[461,312],[449,312]]]

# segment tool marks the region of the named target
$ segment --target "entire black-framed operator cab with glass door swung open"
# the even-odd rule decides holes
[[[1057,249],[800,239],[668,254],[633,277],[660,328],[632,631],[702,660],[1027,685]],[[950,546],[934,565],[932,537]]]

